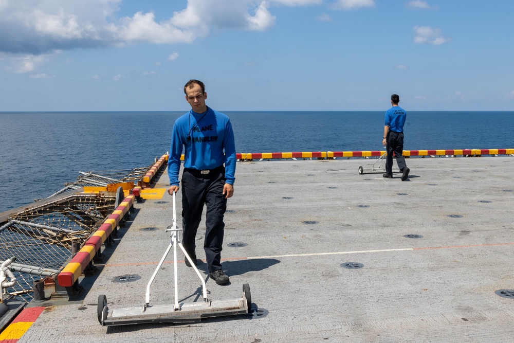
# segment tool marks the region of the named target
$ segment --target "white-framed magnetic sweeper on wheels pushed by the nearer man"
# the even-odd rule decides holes
[[[146,297],[142,306],[122,309],[109,309],[107,306],[107,298],[101,294],[98,296],[98,321],[102,326],[154,323],[154,322],[197,322],[201,318],[221,317],[238,314],[250,313],[251,294],[248,283],[243,284],[243,295],[241,298],[233,300],[212,301],[207,297],[207,288],[205,280],[194,265],[191,257],[189,257],[186,249],[180,243],[178,232],[182,229],[176,227],[176,210],[175,210],[175,192],[173,192],[173,225],[170,225],[166,232],[171,232],[171,242],[164,256],[160,260],[152,278],[146,286]],[[178,303],[178,279],[177,279],[177,245],[180,247],[191,267],[201,281],[203,291],[203,302],[198,303]],[[151,305],[150,304],[150,285],[154,281],[157,272],[171,248],[173,247],[173,266],[175,281],[175,304],[174,305]]]

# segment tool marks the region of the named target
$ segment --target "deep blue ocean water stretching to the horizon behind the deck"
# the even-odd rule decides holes
[[[0,212],[79,171],[148,166],[184,112],[0,112]],[[238,153],[383,150],[384,111],[224,112]],[[409,112],[406,150],[514,148],[514,112]]]

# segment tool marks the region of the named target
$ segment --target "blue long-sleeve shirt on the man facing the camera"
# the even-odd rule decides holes
[[[190,137],[190,140],[187,137]],[[214,169],[225,164],[227,184],[235,180],[235,142],[230,119],[221,112],[207,107],[206,113],[193,110],[179,117],[173,125],[168,175],[170,185],[178,186],[180,155],[183,147],[184,168]]]

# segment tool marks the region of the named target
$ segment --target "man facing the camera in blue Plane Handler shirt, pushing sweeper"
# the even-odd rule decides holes
[[[221,251],[227,199],[234,194],[235,143],[229,118],[206,104],[205,85],[190,80],[184,86],[191,111],[173,125],[168,175],[168,193],[179,189],[180,155],[184,153],[182,173],[182,245],[197,264],[195,237],[204,204],[207,205],[204,250],[211,279],[217,284],[230,282],[223,272]],[[186,259],[186,265],[191,266]]]

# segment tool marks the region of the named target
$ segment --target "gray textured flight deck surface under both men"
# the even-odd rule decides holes
[[[409,158],[406,182],[399,174],[358,173],[374,161],[237,163],[222,252],[231,283],[208,279],[205,217],[198,266],[213,301],[240,298],[248,283],[259,313],[186,324],[99,324],[100,294],[109,308],[142,306],[170,242],[164,229],[172,197],[164,194],[135,204],[115,246],[102,247],[105,265],[81,279],[83,299],[31,304],[48,307],[19,342],[514,341],[514,299],[496,293],[514,289],[514,157]],[[164,172],[155,188],[167,185]],[[154,305],[173,304],[171,261],[172,255],[151,288]],[[349,262],[363,266],[342,266]],[[181,254],[178,273],[181,302],[202,301],[201,284]],[[115,282],[126,275],[140,279]]]

